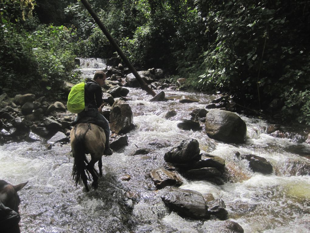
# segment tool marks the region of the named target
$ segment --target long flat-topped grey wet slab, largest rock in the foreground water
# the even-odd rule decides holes
[[[171,188],[161,198],[170,210],[177,212],[182,217],[194,219],[210,218],[206,202],[199,192]]]

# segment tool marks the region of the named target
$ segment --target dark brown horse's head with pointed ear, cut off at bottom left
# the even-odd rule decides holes
[[[11,185],[5,180],[0,180],[0,225],[1,232],[20,233],[19,228],[19,204],[20,197],[17,194],[28,183]]]

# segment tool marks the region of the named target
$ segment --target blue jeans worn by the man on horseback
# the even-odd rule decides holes
[[[97,108],[90,108],[86,112],[78,113],[75,121],[79,121],[84,117],[93,117],[98,120],[98,126],[103,128],[105,134],[105,150],[110,148],[110,126],[109,122],[105,117],[98,111]]]

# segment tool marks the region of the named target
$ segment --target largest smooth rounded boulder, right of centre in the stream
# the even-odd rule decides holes
[[[243,143],[246,140],[246,123],[235,113],[213,109],[206,114],[206,133],[210,138]]]

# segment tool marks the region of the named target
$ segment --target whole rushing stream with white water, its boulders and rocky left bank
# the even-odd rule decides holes
[[[99,188],[87,193],[71,178],[75,114],[66,100],[0,97],[0,179],[29,180],[19,192],[21,232],[310,232],[307,130],[228,112],[229,97],[160,83],[160,69],[140,75],[165,101],[118,62],[78,62],[84,78],[98,69],[109,77],[104,115],[114,153],[102,157]],[[226,115],[232,135],[210,128]]]

